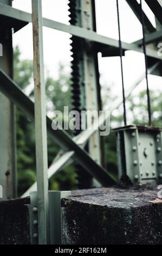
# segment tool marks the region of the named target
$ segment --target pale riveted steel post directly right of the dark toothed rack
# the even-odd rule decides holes
[[[83,0],[81,1],[81,22],[82,27],[90,31],[94,30],[93,24],[93,1]],[[90,111],[99,111],[100,102],[98,95],[98,82],[96,77],[95,67],[95,53],[91,51],[85,51],[83,56],[84,71],[85,71],[85,97],[86,97],[86,109]],[[101,141],[99,131],[96,131],[94,135],[89,139],[89,154],[94,161],[101,164]]]

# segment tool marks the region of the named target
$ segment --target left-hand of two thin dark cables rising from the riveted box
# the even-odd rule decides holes
[[[126,99],[125,99],[125,89],[124,89],[124,74],[123,74],[123,66],[122,66],[122,45],[121,45],[121,34],[120,34],[120,17],[119,17],[119,3],[116,0],[117,13],[118,13],[118,30],[119,30],[119,49],[120,49],[120,64],[121,64],[121,79],[122,79],[122,99],[123,99],[123,107],[124,107],[124,124],[127,125],[127,117],[126,117]]]

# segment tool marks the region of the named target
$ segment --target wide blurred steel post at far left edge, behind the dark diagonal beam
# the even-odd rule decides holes
[[[0,3],[11,5],[11,0],[0,0]],[[5,25],[3,25],[5,26]],[[3,56],[0,57],[0,68],[13,77],[12,31],[5,29],[0,35]],[[3,187],[3,199],[17,196],[16,171],[16,122],[15,106],[0,93],[0,185]]]

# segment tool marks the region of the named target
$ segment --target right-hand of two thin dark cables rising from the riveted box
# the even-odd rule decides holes
[[[148,123],[152,125],[151,119],[151,102],[150,102],[150,90],[148,87],[148,64],[147,64],[147,54],[146,54],[146,40],[145,40],[145,21],[144,21],[144,12],[142,10],[142,0],[140,0],[140,7],[141,7],[141,23],[142,23],[142,33],[143,33],[143,50],[145,55],[145,69],[146,69],[146,84],[147,84],[147,107],[148,107]]]

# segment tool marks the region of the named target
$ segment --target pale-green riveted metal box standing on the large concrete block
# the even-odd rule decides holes
[[[119,178],[139,184],[162,180],[162,132],[158,127],[125,126],[115,129]]]

